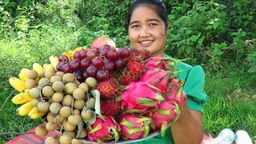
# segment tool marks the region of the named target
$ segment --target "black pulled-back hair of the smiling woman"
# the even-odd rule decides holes
[[[162,19],[162,21],[165,22],[166,26],[168,26],[168,23],[169,23],[167,18],[168,12],[166,9],[166,5],[162,2],[162,0],[135,0],[131,4],[128,10],[128,14],[126,16],[126,30],[128,30],[128,27],[130,24],[130,17],[131,17],[131,14],[133,14],[134,10],[138,6],[146,6],[146,5],[154,6],[155,12]]]

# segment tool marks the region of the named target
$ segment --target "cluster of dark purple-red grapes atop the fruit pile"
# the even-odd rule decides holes
[[[98,81],[104,81],[114,70],[122,70],[130,57],[130,48],[122,47],[118,50],[109,45],[90,50],[77,50],[72,60],[62,54],[58,60],[56,69],[64,73],[72,73],[83,81],[88,77],[94,77]]]

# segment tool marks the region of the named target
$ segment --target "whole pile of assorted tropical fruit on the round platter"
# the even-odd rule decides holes
[[[118,142],[157,130],[163,136],[186,98],[176,62],[96,41],[90,49],[52,55],[50,64],[34,62],[19,78],[10,78],[20,92],[12,98],[22,104],[17,114],[42,118],[46,124],[36,128],[40,136],[61,132],[46,143]]]

